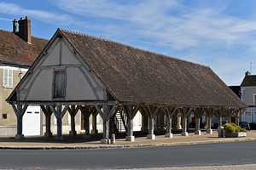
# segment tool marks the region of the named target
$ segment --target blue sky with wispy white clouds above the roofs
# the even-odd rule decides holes
[[[208,65],[228,85],[256,71],[254,0],[1,0],[0,28],[28,15],[32,34],[58,27]]]

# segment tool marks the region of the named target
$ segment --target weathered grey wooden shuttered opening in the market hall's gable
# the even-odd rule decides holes
[[[67,87],[66,71],[55,71],[54,75],[54,98],[62,99],[65,98]]]

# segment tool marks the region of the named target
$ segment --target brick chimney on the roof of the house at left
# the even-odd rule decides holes
[[[26,16],[25,19],[13,21],[13,31],[27,43],[32,43],[31,40],[31,21]]]

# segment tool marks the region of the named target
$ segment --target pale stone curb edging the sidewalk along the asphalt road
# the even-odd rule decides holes
[[[38,147],[12,147],[0,146],[0,150],[99,150],[99,149],[124,149],[124,148],[147,148],[147,147],[168,147],[168,146],[183,146],[196,144],[224,144],[234,142],[256,141],[256,138],[251,139],[225,139],[225,140],[209,140],[209,141],[194,141],[194,142],[177,142],[171,144],[113,144],[113,145],[99,145],[99,146],[38,146]]]

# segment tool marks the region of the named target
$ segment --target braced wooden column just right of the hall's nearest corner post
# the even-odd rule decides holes
[[[134,142],[135,138],[133,136],[133,118],[136,116],[139,110],[139,105],[123,105],[125,114],[127,115],[127,132],[125,139],[127,141]]]

